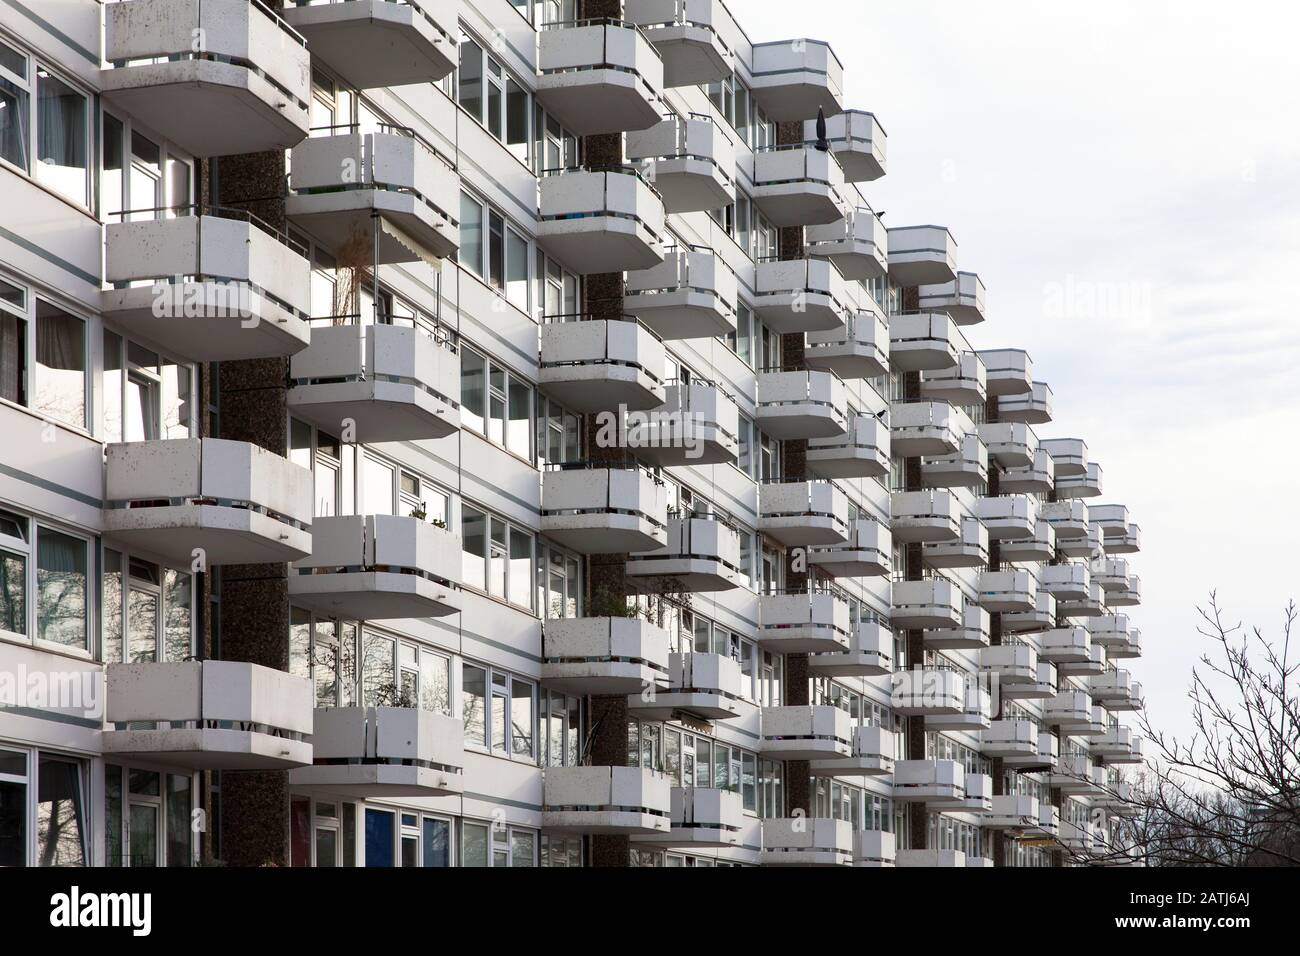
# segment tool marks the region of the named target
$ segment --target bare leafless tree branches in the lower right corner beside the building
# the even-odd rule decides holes
[[[1216,593],[1197,607],[1212,643],[1192,669],[1192,734],[1139,718],[1152,745],[1130,786],[1131,810],[1106,834],[1098,862],[1170,866],[1300,866],[1300,695],[1291,657],[1296,605],[1282,635],[1227,624]]]

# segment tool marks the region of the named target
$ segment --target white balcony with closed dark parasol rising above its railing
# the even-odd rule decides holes
[[[754,153],[754,204],[779,229],[841,220],[842,194],[844,170],[829,152],[794,143]]]

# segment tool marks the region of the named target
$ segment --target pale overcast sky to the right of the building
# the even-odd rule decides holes
[[[1300,5],[728,0],[755,42],[827,39],[888,133],[885,224],[946,225],[1130,555],[1153,723],[1186,735],[1197,605],[1280,633],[1300,598]],[[1300,635],[1297,635],[1300,637]]]

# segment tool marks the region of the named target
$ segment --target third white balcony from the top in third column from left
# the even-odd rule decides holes
[[[658,408],[663,342],[638,321],[551,321],[541,328],[538,388],[584,414]]]

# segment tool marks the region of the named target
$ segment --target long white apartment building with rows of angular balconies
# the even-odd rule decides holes
[[[1086,860],[1139,529],[845,65],[0,5],[0,864]]]

